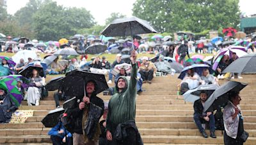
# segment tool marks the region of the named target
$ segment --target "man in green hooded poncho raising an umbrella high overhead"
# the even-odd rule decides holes
[[[131,54],[132,70],[130,81],[128,81],[125,76],[120,76],[115,86],[117,93],[109,100],[106,137],[111,144],[118,144],[119,141],[122,141],[123,144],[136,144],[139,141],[138,137],[140,137],[140,134],[135,125],[137,83],[136,57],[136,52],[133,50]],[[121,140],[117,139],[117,136],[119,136],[117,134],[124,133],[123,127],[125,127],[127,137],[125,137],[125,139],[121,137]],[[140,142],[142,143],[142,141]]]

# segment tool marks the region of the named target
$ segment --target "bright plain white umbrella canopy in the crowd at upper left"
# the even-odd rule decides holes
[[[32,50],[21,50],[12,56],[12,60],[16,64],[19,64],[20,59],[24,59],[24,62],[28,62],[28,58],[35,59],[36,52],[34,52]]]

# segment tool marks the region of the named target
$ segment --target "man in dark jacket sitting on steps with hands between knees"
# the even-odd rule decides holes
[[[208,135],[205,133],[204,128],[202,127],[202,121],[209,122],[211,137],[216,138],[215,135],[215,119],[212,112],[204,113],[205,101],[207,100],[207,93],[200,92],[200,99],[194,102],[194,121],[199,131],[203,135],[203,137],[207,138]]]

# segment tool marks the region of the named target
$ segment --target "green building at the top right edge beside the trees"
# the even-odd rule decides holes
[[[246,34],[256,32],[256,15],[241,18],[240,29]]]

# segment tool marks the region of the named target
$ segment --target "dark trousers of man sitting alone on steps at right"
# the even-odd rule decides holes
[[[202,120],[201,114],[198,114],[198,113],[194,114],[194,121],[196,123],[196,127],[199,129],[200,132],[204,130],[204,128],[202,127],[201,120]],[[209,116],[209,126],[211,131],[215,131],[215,119],[213,114]]]

